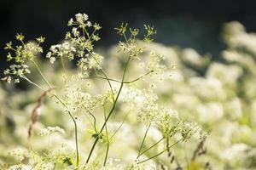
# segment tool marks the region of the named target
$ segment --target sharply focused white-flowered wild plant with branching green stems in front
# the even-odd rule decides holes
[[[154,93],[153,82],[165,81],[169,78],[172,65],[170,68],[164,65],[163,55],[154,51],[150,53],[145,51],[143,44],[152,42],[152,37],[156,33],[153,26],[144,26],[143,42],[138,40],[140,35],[138,29],[131,29],[127,24],[115,28],[119,36],[123,38],[123,41],[119,42],[119,53],[123,55],[120,60],[124,62],[120,78],[108,76],[108,71],[103,66],[102,55],[95,51],[94,43],[100,40],[97,31],[101,29],[101,26],[92,24],[86,14],[76,14],[75,19],[68,21],[68,26],[72,26],[72,31],[67,31],[64,41],[51,46],[46,54],[50,64],[57,65],[56,62],[60,62],[62,65],[63,84],[61,87],[49,82],[49,78],[44,76],[44,71],[41,71],[38,65],[37,57],[39,54],[43,54],[43,48],[40,47],[40,44],[44,42],[45,38],[38,37],[36,42],[24,42],[25,37],[22,34],[16,36],[20,45],[14,46],[13,42],[6,44],[5,49],[9,50],[7,59],[15,64],[10,65],[9,69],[4,71],[6,77],[3,80],[12,82],[14,79],[14,82],[18,83],[20,79],[24,79],[41,89],[44,94],[49,94],[55,98],[56,103],[61,105],[63,112],[67,113],[73,121],[75,159],[73,160],[72,156],[65,154],[55,158],[55,156],[49,155],[50,152],[40,157],[36,151],[23,150],[20,165],[15,165],[11,169],[22,169],[27,166],[40,169],[44,168],[43,164],[47,165],[46,169],[54,169],[60,163],[67,163],[73,169],[119,169],[120,167],[113,166],[113,162],[108,159],[108,155],[111,152],[110,145],[115,144],[114,137],[124,125],[127,116],[124,116],[122,123],[114,131],[110,130],[108,125],[111,117],[119,111],[120,107],[125,108],[126,111],[132,114],[137,114],[137,123],[146,127],[141,138],[142,141],[137,145],[137,156],[131,158],[131,165],[125,165],[122,168],[144,169],[144,162],[152,161],[176,144],[186,142],[194,133],[201,131],[195,122],[184,122],[178,117],[177,111],[158,104],[158,96]],[[145,56],[148,58],[145,59]],[[67,62],[72,60],[76,62],[78,71],[70,76]],[[140,67],[140,75],[129,77],[129,65]],[[29,77],[32,66],[37,69],[38,74],[44,79],[48,88]],[[149,82],[151,80],[154,81]],[[139,82],[148,82],[148,86],[137,88]],[[92,86],[97,83],[100,88],[95,92],[93,88],[96,87]],[[99,112],[102,114],[99,114]],[[82,157],[79,153],[80,148],[84,145],[79,142],[79,120],[84,123],[90,122],[90,128],[87,129],[87,132],[94,139],[91,148],[86,149],[89,150],[87,157]],[[146,144],[148,132],[152,127],[157,128],[162,137],[148,146]],[[48,127],[43,129],[40,134],[47,133],[49,135],[50,132],[55,131],[65,134],[63,129],[60,129],[58,127]],[[31,133],[31,131],[29,132]],[[166,146],[167,141],[168,143],[173,141],[173,144]],[[96,146],[99,145],[99,142],[105,148],[103,155],[96,154]],[[137,141],[131,142],[138,143]],[[164,143],[165,148],[152,154],[150,151],[157,150],[156,148],[161,143]],[[28,161],[24,161],[24,159]],[[122,157],[119,157],[119,159],[122,160]],[[111,163],[109,163],[109,160]]]

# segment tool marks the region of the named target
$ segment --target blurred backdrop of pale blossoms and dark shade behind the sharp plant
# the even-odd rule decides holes
[[[143,24],[153,25],[158,31],[154,37],[156,43],[143,44],[147,47],[147,52],[142,56],[143,62],[148,62],[148,54],[154,50],[166,56],[163,61],[165,65],[172,67],[175,64],[176,69],[171,71],[170,80],[161,82],[159,79],[150,78],[137,82],[134,87],[143,89],[154,85],[152,87],[160,96],[161,105],[177,110],[182,119],[198,122],[205,132],[210,132],[206,142],[206,155],[187,162],[186,159],[194,154],[198,139],[189,140],[187,145],[177,145],[177,148],[172,150],[173,153],[183,167],[188,167],[189,170],[253,170],[256,169],[256,34],[251,32],[256,32],[255,6],[256,1],[248,0],[0,0],[0,77],[3,69],[9,65],[5,61],[3,47],[6,42],[15,42],[17,32],[22,32],[26,41],[39,36],[46,37],[45,54],[50,45],[61,42],[69,30],[67,20],[78,13],[88,14],[92,23],[98,22],[102,26],[99,32],[102,40],[96,42],[96,50],[106,58],[103,67],[110,77],[119,77],[124,66],[122,59],[125,58],[117,53],[116,44],[119,37],[113,28],[121,22],[130,23],[130,26],[135,28],[143,28]],[[233,20],[238,22],[230,22]],[[47,62],[38,59],[45,77],[56,87],[64,88],[63,72],[57,62],[55,65],[49,65],[48,60],[44,61]],[[131,65],[130,77],[137,77],[138,73],[142,72],[137,64],[135,62]],[[32,80],[46,86],[35,67],[32,69]],[[75,72],[75,69],[70,69],[67,77],[72,77]],[[84,86],[86,83],[72,79],[69,81],[69,99],[72,103],[72,99],[79,99],[79,93],[73,93],[73,90],[78,89],[76,86]],[[151,81],[153,84],[148,83]],[[93,95],[108,92],[105,89],[108,86],[105,87],[97,81],[93,81],[90,87]],[[61,90],[60,94],[63,94],[65,90]],[[26,81],[17,86],[9,86],[0,81],[0,169],[3,163],[14,165],[18,162],[7,150],[26,147],[27,127],[31,121],[32,109],[41,94],[38,88],[32,87]],[[127,96],[125,92],[121,95]],[[86,102],[84,103],[87,104]],[[113,130],[116,128],[114,123],[126,119],[124,105],[126,104],[119,102],[120,109],[117,109],[111,122]],[[133,108],[137,110],[137,107]],[[75,144],[73,124],[69,117],[62,114],[63,111],[55,105],[52,98],[45,99],[39,112],[40,117],[35,124],[31,140],[33,149],[41,156],[49,150],[57,150],[61,144],[68,144],[63,153],[68,155],[65,155],[65,158],[72,158]],[[97,114],[102,112],[95,112],[100,122],[103,122],[102,115]],[[85,160],[88,148],[91,147],[91,133],[84,133],[84,129],[92,129],[92,126],[84,119],[79,121],[79,145],[83,145],[80,153]],[[137,154],[137,141],[143,136],[144,127],[136,120],[137,115],[131,114],[122,133],[119,133],[114,141],[117,145],[111,156],[124,158],[124,164],[130,163],[134,157],[132,154]],[[53,136],[49,143],[48,137],[38,135],[41,129],[49,126],[62,127],[67,135]],[[149,136],[148,146],[158,140],[157,134],[160,133],[157,133],[157,129],[154,130]],[[127,144],[125,147],[124,143]],[[49,147],[45,147],[46,145]],[[97,153],[99,157],[102,156],[103,149],[105,146],[102,144]],[[153,156],[154,151],[158,149],[149,153],[148,157]],[[51,153],[55,155],[50,151],[49,157],[52,157]],[[155,162],[169,162],[168,159],[163,155]],[[47,162],[42,161],[42,165],[44,163]],[[40,165],[38,164],[38,167]],[[207,165],[210,166],[206,167]],[[176,164],[168,163],[166,166],[177,167]]]

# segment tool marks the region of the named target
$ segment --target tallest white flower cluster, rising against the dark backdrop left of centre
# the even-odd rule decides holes
[[[79,68],[90,72],[91,69],[100,69],[102,64],[102,55],[94,52],[94,42],[101,38],[97,31],[101,29],[98,24],[91,24],[87,14],[76,14],[75,20],[70,19],[67,26],[73,26],[72,31],[67,31],[64,42],[53,45],[49,48],[46,58],[53,64],[56,59],[73,60],[79,57]]]

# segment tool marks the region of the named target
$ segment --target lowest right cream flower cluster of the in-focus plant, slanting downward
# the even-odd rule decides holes
[[[122,101],[136,108],[138,121],[156,125],[166,139],[181,133],[183,140],[187,140],[192,134],[201,131],[195,122],[183,122],[177,111],[159,105],[158,97],[152,90],[127,88],[123,93]]]

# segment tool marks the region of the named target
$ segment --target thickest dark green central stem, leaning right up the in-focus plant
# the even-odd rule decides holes
[[[116,99],[114,99],[114,101],[113,101],[112,109],[111,109],[111,111],[109,111],[108,117],[107,117],[107,119],[105,120],[104,124],[102,125],[102,128],[101,128],[100,133],[102,133],[104,127],[106,126],[106,123],[108,122],[109,117],[113,114],[113,110],[114,110],[114,108],[115,108],[115,105],[116,105],[116,103],[117,103],[117,100],[119,99],[119,94],[121,93],[121,90],[122,90],[122,88],[123,88],[123,86],[124,86],[124,83],[123,83],[123,82],[124,82],[124,80],[125,80],[125,73],[126,73],[127,66],[128,66],[128,63],[129,63],[130,59],[131,59],[131,57],[129,56],[129,58],[128,58],[126,64],[125,64],[125,71],[124,71],[124,74],[123,74],[123,77],[122,77],[122,82],[121,82],[121,85],[120,85],[120,88],[119,88],[119,92],[118,92],[118,94],[117,94],[117,96],[116,96]],[[109,80],[108,80],[108,81],[109,81]],[[92,147],[91,147],[91,149],[90,149],[89,156],[88,156],[88,158],[87,158],[87,160],[86,160],[86,163],[88,163],[88,162],[90,161],[90,156],[91,156],[93,150],[95,149],[95,146],[96,146],[98,140],[99,140],[99,138],[96,138],[94,144],[92,145]]]

